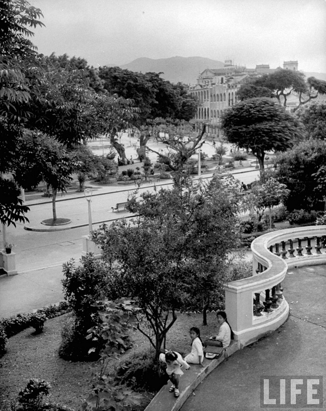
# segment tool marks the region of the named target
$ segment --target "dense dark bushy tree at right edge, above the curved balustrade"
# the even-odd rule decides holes
[[[289,211],[295,209],[323,208],[324,191],[317,189],[322,172],[318,171],[326,164],[326,143],[308,140],[278,154],[276,176],[290,190],[285,200]]]

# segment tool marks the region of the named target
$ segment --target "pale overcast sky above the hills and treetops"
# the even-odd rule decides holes
[[[326,73],[325,0],[29,1],[44,15],[38,51],[95,67],[200,56],[248,68],[298,60],[299,70]]]

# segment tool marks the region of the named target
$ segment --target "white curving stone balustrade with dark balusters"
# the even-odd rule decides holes
[[[287,270],[326,264],[324,239],[326,226],[309,226],[270,232],[252,242],[253,276],[224,287],[228,320],[240,346],[286,321],[289,306],[282,281]]]

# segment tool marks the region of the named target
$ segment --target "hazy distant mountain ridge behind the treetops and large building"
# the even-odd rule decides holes
[[[107,64],[107,66],[118,66],[122,69],[127,69],[135,72],[147,73],[149,71],[159,73],[162,72],[161,77],[171,83],[196,84],[198,74],[203,72],[206,68],[220,68],[224,63],[219,60],[206,59],[205,57],[170,57],[168,59],[148,59],[142,57],[133,60],[128,64]],[[307,77],[316,77],[320,80],[326,81],[326,73],[306,73]]]

